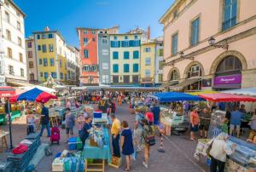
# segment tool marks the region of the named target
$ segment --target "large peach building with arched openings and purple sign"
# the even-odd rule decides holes
[[[166,89],[255,87],[256,2],[176,0],[164,25]]]

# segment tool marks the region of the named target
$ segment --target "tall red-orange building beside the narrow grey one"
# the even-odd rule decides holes
[[[77,28],[82,62],[81,85],[99,84],[98,33],[117,33],[119,26],[108,29]]]

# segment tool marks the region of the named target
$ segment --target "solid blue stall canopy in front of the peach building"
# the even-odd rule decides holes
[[[205,100],[196,95],[189,95],[189,94],[177,93],[177,92],[156,93],[153,95],[149,95],[149,97],[159,100],[162,103],[163,102],[172,102],[172,101],[184,101],[184,100],[187,100],[187,101],[189,101],[189,100],[194,100],[194,101]]]

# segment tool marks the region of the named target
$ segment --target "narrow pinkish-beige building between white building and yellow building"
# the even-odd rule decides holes
[[[38,60],[34,37],[26,38],[26,66],[29,83],[38,83]]]

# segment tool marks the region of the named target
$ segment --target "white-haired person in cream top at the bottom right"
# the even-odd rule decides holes
[[[212,145],[210,150],[210,157],[212,163],[210,166],[211,172],[216,172],[218,167],[218,172],[224,172],[225,161],[227,155],[231,155],[236,151],[236,145],[233,144],[231,147],[228,145],[227,140],[229,135],[222,132],[218,134],[216,139],[211,140],[208,145]]]

